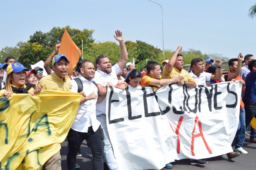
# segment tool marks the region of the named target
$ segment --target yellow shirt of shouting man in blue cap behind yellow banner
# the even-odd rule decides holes
[[[55,73],[43,77],[39,83],[45,90],[71,91],[71,79],[66,75],[65,81]]]

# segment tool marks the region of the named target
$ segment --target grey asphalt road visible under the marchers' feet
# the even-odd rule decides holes
[[[67,140],[62,143],[62,148],[60,154],[62,156],[62,170],[67,170],[66,162],[66,147]],[[233,146],[234,148],[234,146]],[[256,144],[249,142],[249,136],[246,135],[246,139],[243,146],[244,150],[248,154],[240,154],[240,156],[228,160],[226,155],[216,156],[213,158],[205,159],[208,161],[208,164],[205,166],[192,166],[190,165],[189,159],[178,160],[172,162],[172,170],[198,170],[203,168],[203,170],[255,170],[256,169]],[[92,164],[92,152],[90,148],[86,145],[86,142],[81,146],[82,155],[77,156],[77,163],[80,165],[79,170],[93,170]],[[104,167],[107,170],[107,167]],[[168,170],[163,168],[163,170]]]

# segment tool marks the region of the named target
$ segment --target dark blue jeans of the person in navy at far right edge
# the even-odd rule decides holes
[[[244,110],[245,110],[245,126],[247,129],[250,125],[250,122],[252,121],[252,118],[256,117],[256,105],[250,105],[244,102]],[[253,139],[255,137],[256,137],[256,131],[254,128],[251,128],[250,138]]]

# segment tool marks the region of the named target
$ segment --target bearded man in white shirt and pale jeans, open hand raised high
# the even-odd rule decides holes
[[[115,65],[111,65],[110,60],[106,55],[99,55],[96,57],[95,63],[97,66],[97,71],[95,72],[94,81],[97,84],[99,95],[105,96],[100,103],[96,104],[96,117],[97,120],[100,121],[101,128],[104,133],[104,158],[106,161],[106,164],[108,165],[108,168],[110,170],[117,170],[118,164],[116,162],[116,158],[114,156],[112,144],[109,139],[107,124],[106,124],[106,85],[109,84],[109,82],[115,86],[118,83],[117,76],[124,65],[127,62],[128,55],[126,51],[126,46],[124,44],[124,37],[122,35],[122,32],[120,30],[116,30],[116,36],[114,38],[119,42],[120,44],[120,52],[121,56],[119,61]],[[121,86],[126,87],[127,84],[122,83]]]

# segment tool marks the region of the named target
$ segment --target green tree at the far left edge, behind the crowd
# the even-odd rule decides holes
[[[4,60],[6,59],[6,57],[9,57],[9,56],[12,56],[16,60],[18,60],[18,57],[20,56],[18,47],[6,46],[2,48],[2,50],[0,51],[0,63],[4,63]]]

